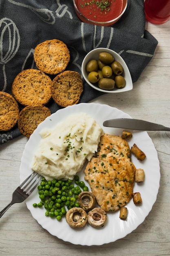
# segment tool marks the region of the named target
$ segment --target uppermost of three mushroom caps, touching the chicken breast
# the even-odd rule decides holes
[[[82,207],[85,211],[90,211],[95,207],[96,199],[93,193],[88,191],[83,191],[79,193],[77,201],[79,206]]]

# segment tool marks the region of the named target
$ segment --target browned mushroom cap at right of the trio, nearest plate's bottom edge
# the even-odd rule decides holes
[[[107,214],[101,208],[95,207],[87,214],[88,223],[93,227],[102,227],[106,220]]]

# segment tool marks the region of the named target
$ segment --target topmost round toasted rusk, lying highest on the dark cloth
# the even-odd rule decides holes
[[[70,52],[62,41],[46,40],[35,47],[34,60],[42,72],[58,74],[68,65]]]

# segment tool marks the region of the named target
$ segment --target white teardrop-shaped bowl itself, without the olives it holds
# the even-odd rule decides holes
[[[96,85],[93,85],[93,83],[89,82],[88,79],[86,78],[86,76],[84,76],[85,72],[84,72],[84,68],[85,68],[85,61],[86,61],[86,58],[91,54],[91,52],[103,52],[103,51],[108,51],[108,52],[113,52],[116,56],[119,56],[119,58],[121,59],[121,62],[124,63],[125,67],[126,67],[126,75],[128,76],[128,81],[129,81],[129,84],[130,84],[130,88],[129,87],[124,87],[124,88],[117,88],[116,90],[103,90],[99,87],[96,87]],[[83,61],[82,61],[82,76],[84,77],[84,80],[86,81],[86,83],[88,83],[89,86],[91,86],[93,89],[99,91],[99,92],[106,92],[106,93],[119,93],[119,92],[127,92],[127,91],[130,91],[133,89],[133,83],[132,83],[132,77],[131,77],[131,74],[130,74],[130,71],[128,69],[128,66],[126,64],[126,62],[124,61],[124,59],[117,53],[115,52],[113,49],[110,49],[110,48],[104,48],[104,47],[99,47],[99,48],[95,48],[93,50],[91,50],[90,52],[88,52],[86,54],[86,56],[84,57]],[[124,69],[125,70],[125,69]]]

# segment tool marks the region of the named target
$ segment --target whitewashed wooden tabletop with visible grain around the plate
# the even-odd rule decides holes
[[[105,94],[92,102],[116,107],[133,118],[170,126],[170,20],[162,25],[146,22],[159,41],[155,55],[130,92]],[[148,132],[160,161],[160,188],[152,211],[131,234],[102,246],[66,243],[44,230],[26,204],[14,204],[0,219],[0,255],[170,255],[170,132]],[[27,138],[0,146],[0,210],[19,185],[20,159]],[[154,177],[153,177],[154,178]]]

